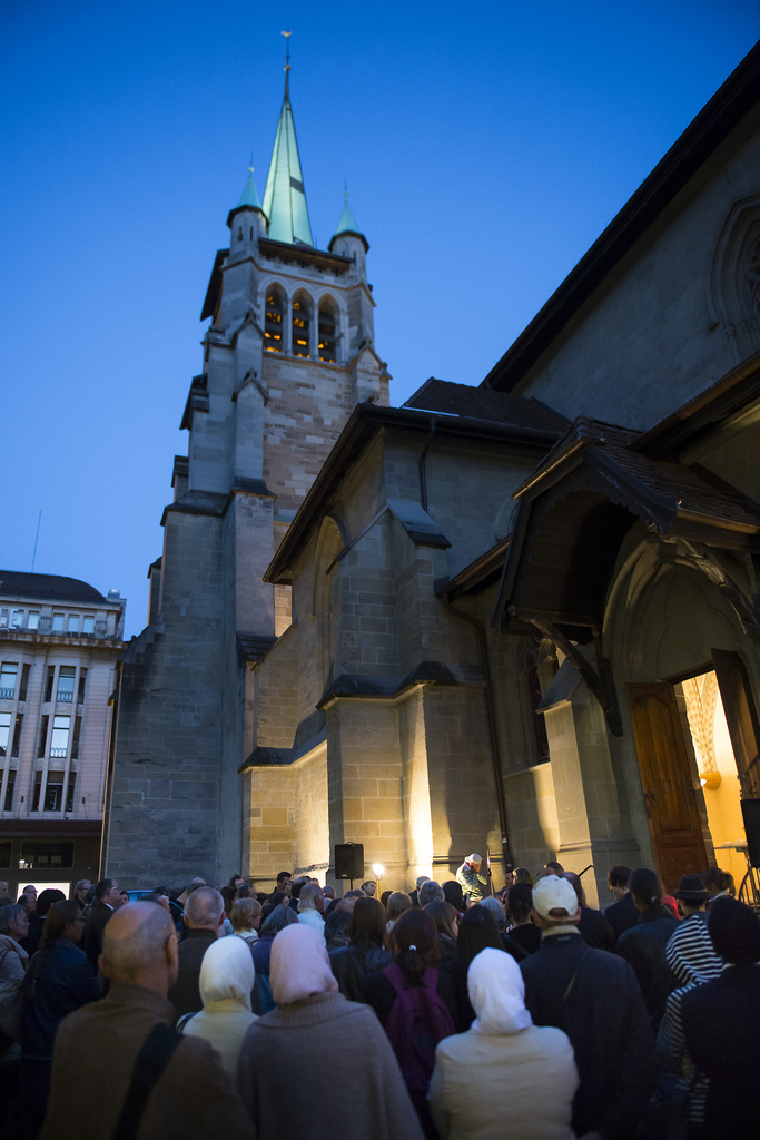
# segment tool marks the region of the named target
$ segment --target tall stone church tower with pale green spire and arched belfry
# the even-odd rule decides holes
[[[124,654],[101,873],[126,885],[239,869],[250,667],[291,620],[288,587],[262,576],[354,406],[387,405],[368,244],[346,195],[328,249],[314,247],[289,71],[263,202],[251,168],[212,269],[188,454],[174,458],[148,625]]]

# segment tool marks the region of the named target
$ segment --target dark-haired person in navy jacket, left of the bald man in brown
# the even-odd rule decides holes
[[[44,894],[40,894],[40,901]],[[44,1119],[52,1045],[60,1021],[81,1005],[103,997],[96,971],[79,947],[83,927],[76,898],[54,899],[47,909],[39,952],[31,959],[22,984],[21,1092],[30,1137],[36,1135]]]

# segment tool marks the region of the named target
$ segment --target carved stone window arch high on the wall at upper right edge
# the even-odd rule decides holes
[[[760,349],[760,194],[735,203],[718,238],[711,300],[737,361]]]

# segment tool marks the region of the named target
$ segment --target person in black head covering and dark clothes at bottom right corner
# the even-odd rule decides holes
[[[760,919],[729,896],[713,898],[708,930],[722,972],[684,995],[687,1052],[709,1080],[704,1135],[755,1140],[760,1121]]]

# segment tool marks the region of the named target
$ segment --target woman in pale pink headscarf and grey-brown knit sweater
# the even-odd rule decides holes
[[[301,923],[280,930],[269,976],[276,1008],[246,1033],[238,1068],[256,1134],[423,1140],[385,1032],[340,992],[322,936]],[[345,1094],[325,1108],[336,1080]]]

